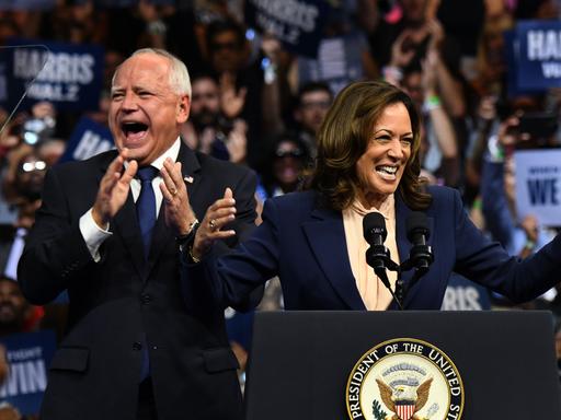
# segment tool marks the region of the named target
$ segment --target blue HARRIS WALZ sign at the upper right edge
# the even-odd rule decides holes
[[[561,22],[520,21],[516,25],[518,91],[561,86]]]

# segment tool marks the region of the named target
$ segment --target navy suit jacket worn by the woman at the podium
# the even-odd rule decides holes
[[[491,242],[469,220],[457,190],[431,187],[426,210],[434,262],[409,291],[407,310],[439,310],[451,271],[456,271],[513,301],[527,301],[559,281],[561,236],[531,258],[519,261]],[[358,293],[346,248],[340,211],[321,205],[316,191],[268,199],[263,223],[236,252],[203,264],[186,264],[187,276],[207,277],[217,299],[237,302],[248,291],[278,275],[287,310],[356,310],[365,305]],[[396,194],[396,240],[400,261],[411,243],[405,221],[411,209]],[[405,285],[413,277],[403,273]],[[396,308],[392,304],[391,308]]]

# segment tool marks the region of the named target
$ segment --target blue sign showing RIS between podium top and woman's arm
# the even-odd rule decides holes
[[[443,311],[486,311],[490,308],[491,300],[485,288],[453,272],[444,294]]]

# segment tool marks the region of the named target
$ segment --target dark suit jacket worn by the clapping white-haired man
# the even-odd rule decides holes
[[[101,261],[88,250],[79,219],[93,206],[115,156],[110,151],[47,174],[43,206],[20,260],[19,280],[31,302],[47,303],[65,289],[70,299],[69,330],[51,362],[41,418],[135,419],[146,342],[160,420],[239,419],[238,363],[224,307],[199,288],[204,279],[180,285],[179,249],[163,209],[146,265],[130,192],[111,222]],[[251,171],[183,144],[178,161],[183,175],[193,177],[187,189],[199,219],[231,187],[238,209],[232,228],[238,234],[251,230],[256,183]]]

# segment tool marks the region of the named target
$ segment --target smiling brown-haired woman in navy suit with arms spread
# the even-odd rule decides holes
[[[251,238],[216,259],[214,241],[234,234],[221,230],[236,212],[228,192],[208,209],[184,273],[206,275],[228,303],[278,275],[287,310],[392,308],[390,292],[365,260],[363,218],[383,215],[385,245],[403,262],[412,247],[405,221],[422,211],[434,261],[414,284],[413,273],[403,273],[405,308],[440,308],[453,271],[513,301],[550,289],[561,268],[561,238],[526,260],[511,257],[473,225],[457,190],[420,180],[419,148],[419,115],[407,94],[379,81],[348,85],[320,129],[311,188],[267,200]],[[396,275],[388,277],[394,288]]]

